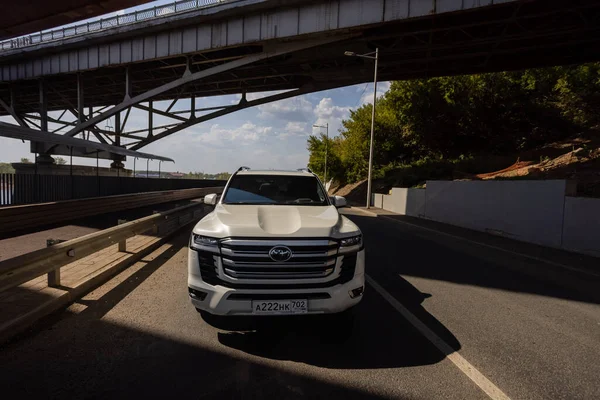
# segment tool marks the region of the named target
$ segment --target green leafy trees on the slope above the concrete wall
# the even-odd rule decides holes
[[[515,155],[600,125],[599,106],[600,63],[392,82],[377,103],[375,176],[427,163],[441,176],[452,169],[448,160]],[[328,143],[338,181],[367,176],[371,107],[352,110]],[[324,144],[322,136],[307,143],[319,174]]]

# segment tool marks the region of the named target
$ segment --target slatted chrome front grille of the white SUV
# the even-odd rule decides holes
[[[291,258],[272,260],[269,251],[275,246],[289,248]],[[236,280],[318,279],[334,273],[338,243],[329,239],[225,239],[220,250],[223,272]]]

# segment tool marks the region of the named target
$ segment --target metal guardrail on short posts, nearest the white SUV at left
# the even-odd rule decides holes
[[[160,234],[163,229],[166,232],[175,231],[200,218],[205,207],[208,206],[195,202],[2,261],[0,292],[44,274],[48,274],[49,286],[60,285],[61,267],[150,230]],[[120,244],[121,249],[126,250]]]

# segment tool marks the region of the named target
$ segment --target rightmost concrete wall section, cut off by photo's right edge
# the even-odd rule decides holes
[[[600,199],[565,198],[563,247],[600,256]]]

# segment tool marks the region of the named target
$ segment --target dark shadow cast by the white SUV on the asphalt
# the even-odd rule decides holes
[[[404,281],[405,307],[457,351],[460,342],[422,306],[430,294]],[[229,317],[231,319],[231,317]],[[218,321],[218,319],[217,319]],[[330,315],[241,319],[241,331],[219,332],[228,347],[260,357],[290,360],[336,369],[399,368],[437,363],[445,358],[372,287],[356,307],[352,333],[344,332]],[[213,321],[211,321],[213,322]],[[231,321],[225,321],[232,328]],[[220,328],[218,322],[213,326]],[[244,331],[244,329],[250,329]]]

